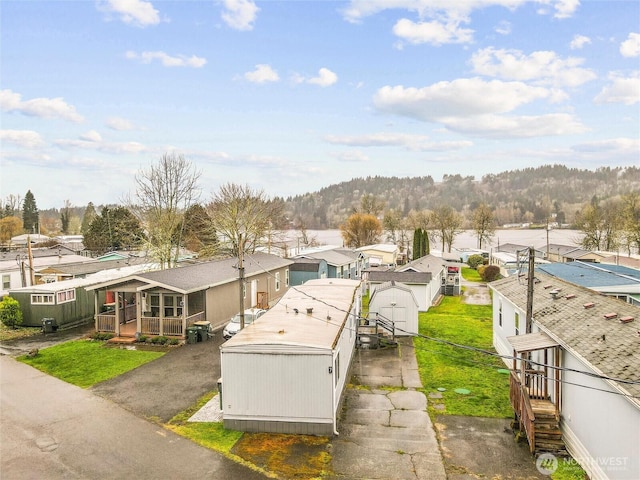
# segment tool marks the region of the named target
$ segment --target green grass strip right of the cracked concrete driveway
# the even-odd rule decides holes
[[[419,332],[493,352],[491,308],[464,304],[462,297],[444,297],[440,305],[420,314]],[[424,338],[415,338],[414,345],[425,393],[442,394],[442,399],[430,399],[430,413],[504,418],[513,415],[509,376],[498,371],[505,368],[502,360]],[[457,393],[456,389],[469,393]],[[444,409],[437,405],[444,405]]]

